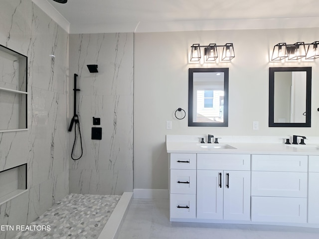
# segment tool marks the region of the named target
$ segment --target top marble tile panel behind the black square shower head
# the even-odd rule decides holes
[[[70,34],[70,72],[80,95],[133,95],[133,33]],[[97,64],[90,73],[88,64]]]

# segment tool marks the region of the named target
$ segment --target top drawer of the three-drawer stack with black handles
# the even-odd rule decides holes
[[[171,169],[196,169],[196,153],[171,153]]]

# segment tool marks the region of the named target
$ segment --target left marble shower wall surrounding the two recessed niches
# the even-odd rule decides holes
[[[0,22],[0,44],[28,57],[29,93],[28,130],[0,132],[0,171],[27,163],[28,191],[0,205],[0,225],[26,225],[68,193],[68,33],[31,0],[1,0]]]

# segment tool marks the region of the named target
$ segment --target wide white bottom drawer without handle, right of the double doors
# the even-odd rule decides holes
[[[307,223],[307,198],[251,197],[251,221]]]

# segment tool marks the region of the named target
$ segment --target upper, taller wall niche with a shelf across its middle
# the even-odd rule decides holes
[[[27,130],[27,57],[0,45],[0,132]]]

